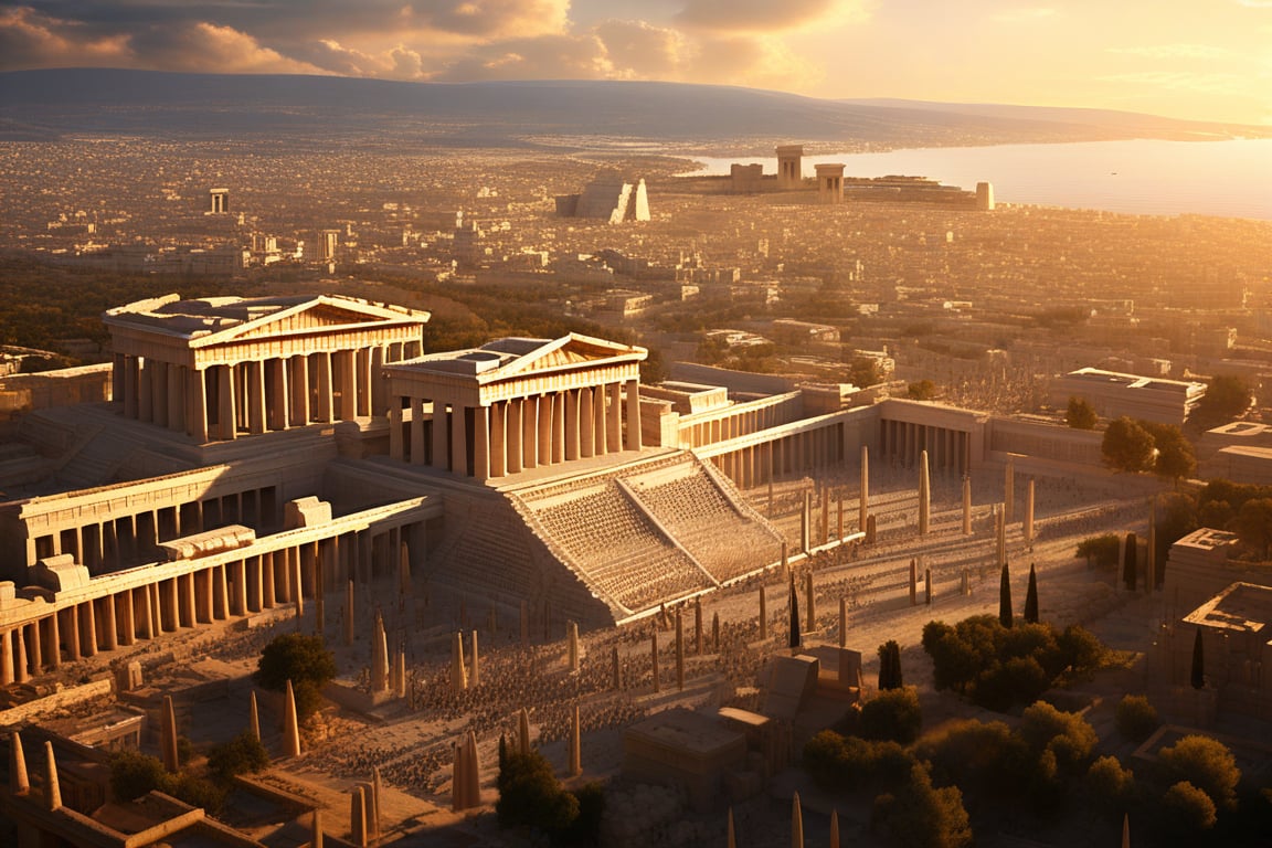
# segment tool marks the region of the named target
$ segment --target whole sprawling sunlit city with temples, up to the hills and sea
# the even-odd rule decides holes
[[[1267,844],[1272,221],[17,80],[4,844]]]

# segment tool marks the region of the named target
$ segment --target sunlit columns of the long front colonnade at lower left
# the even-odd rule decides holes
[[[403,544],[424,551],[422,523],[347,530],[271,549],[258,544],[207,562],[156,563],[155,576],[142,585],[120,586],[135,582],[135,572],[100,578],[97,598],[0,624],[0,685],[25,683],[64,661],[131,647],[137,639],[299,603],[349,580],[397,575]]]

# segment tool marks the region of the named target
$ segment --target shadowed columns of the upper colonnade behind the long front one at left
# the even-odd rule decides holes
[[[202,501],[65,528],[28,539],[29,563],[69,553],[98,575],[130,563],[154,559],[160,542],[201,533],[225,524],[247,524],[257,530],[277,523],[276,488],[266,486]]]

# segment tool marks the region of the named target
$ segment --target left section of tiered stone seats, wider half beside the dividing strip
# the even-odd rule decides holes
[[[550,544],[565,553],[598,594],[627,610],[712,585],[611,475],[523,492],[520,498]]]

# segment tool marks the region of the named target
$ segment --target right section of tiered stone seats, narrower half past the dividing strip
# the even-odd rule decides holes
[[[781,537],[692,455],[632,474],[632,496],[711,576],[725,582],[781,558]]]

